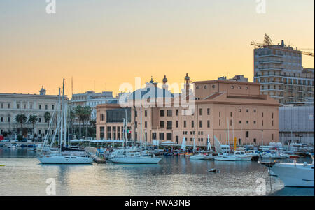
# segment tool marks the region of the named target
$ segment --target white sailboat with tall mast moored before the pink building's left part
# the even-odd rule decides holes
[[[126,118],[127,126],[127,118]],[[158,164],[162,158],[155,156],[142,156],[142,97],[140,100],[140,152],[123,151],[121,155],[116,155],[111,158],[113,163],[132,163],[132,164]],[[126,130],[126,129],[125,129]],[[127,131],[126,131],[127,132]],[[127,136],[127,134],[126,134]]]

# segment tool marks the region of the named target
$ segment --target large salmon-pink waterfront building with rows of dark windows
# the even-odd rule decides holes
[[[181,144],[185,137],[188,145],[193,145],[195,138],[198,146],[206,146],[208,135],[212,145],[214,136],[222,144],[233,137],[237,138],[237,144],[269,144],[279,140],[279,103],[260,94],[260,84],[221,78],[192,85],[186,75],[184,85],[183,94],[174,96],[167,90],[165,77],[162,89],[151,80],[146,89],[132,93],[128,98],[132,140],[140,140],[139,98],[146,98],[148,92],[153,94],[143,100],[147,103],[142,103],[142,140],[148,144],[153,140]],[[185,102],[188,107],[183,107]],[[102,119],[106,121],[106,117],[99,119],[99,114],[105,110],[105,107],[97,106],[97,138],[100,137]],[[107,137],[105,134],[104,138]]]

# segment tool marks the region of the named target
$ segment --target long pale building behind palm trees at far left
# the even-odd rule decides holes
[[[35,134],[43,137],[48,130],[48,122],[45,121],[45,112],[57,110],[58,96],[46,95],[43,87],[40,94],[22,94],[22,93],[0,93],[0,132],[12,133],[15,135],[20,129],[20,123],[15,121],[17,114],[36,115],[38,121],[35,124]],[[65,99],[67,100],[66,96]],[[23,128],[29,128],[29,135],[32,134],[33,125],[28,121],[23,124]],[[52,127],[52,133],[54,130]]]

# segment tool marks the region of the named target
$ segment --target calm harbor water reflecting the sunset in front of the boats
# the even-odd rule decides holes
[[[0,165],[0,195],[46,195],[48,178],[56,195],[258,195],[256,180],[264,178],[267,195],[314,196],[314,188],[286,188],[276,177],[271,189],[267,169],[251,161],[167,156],[158,165],[41,165],[34,151],[0,148]],[[208,172],[214,167],[221,172]]]

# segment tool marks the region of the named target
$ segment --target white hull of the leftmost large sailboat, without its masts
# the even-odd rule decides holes
[[[92,158],[71,156],[44,156],[38,158],[42,164],[90,164]]]

